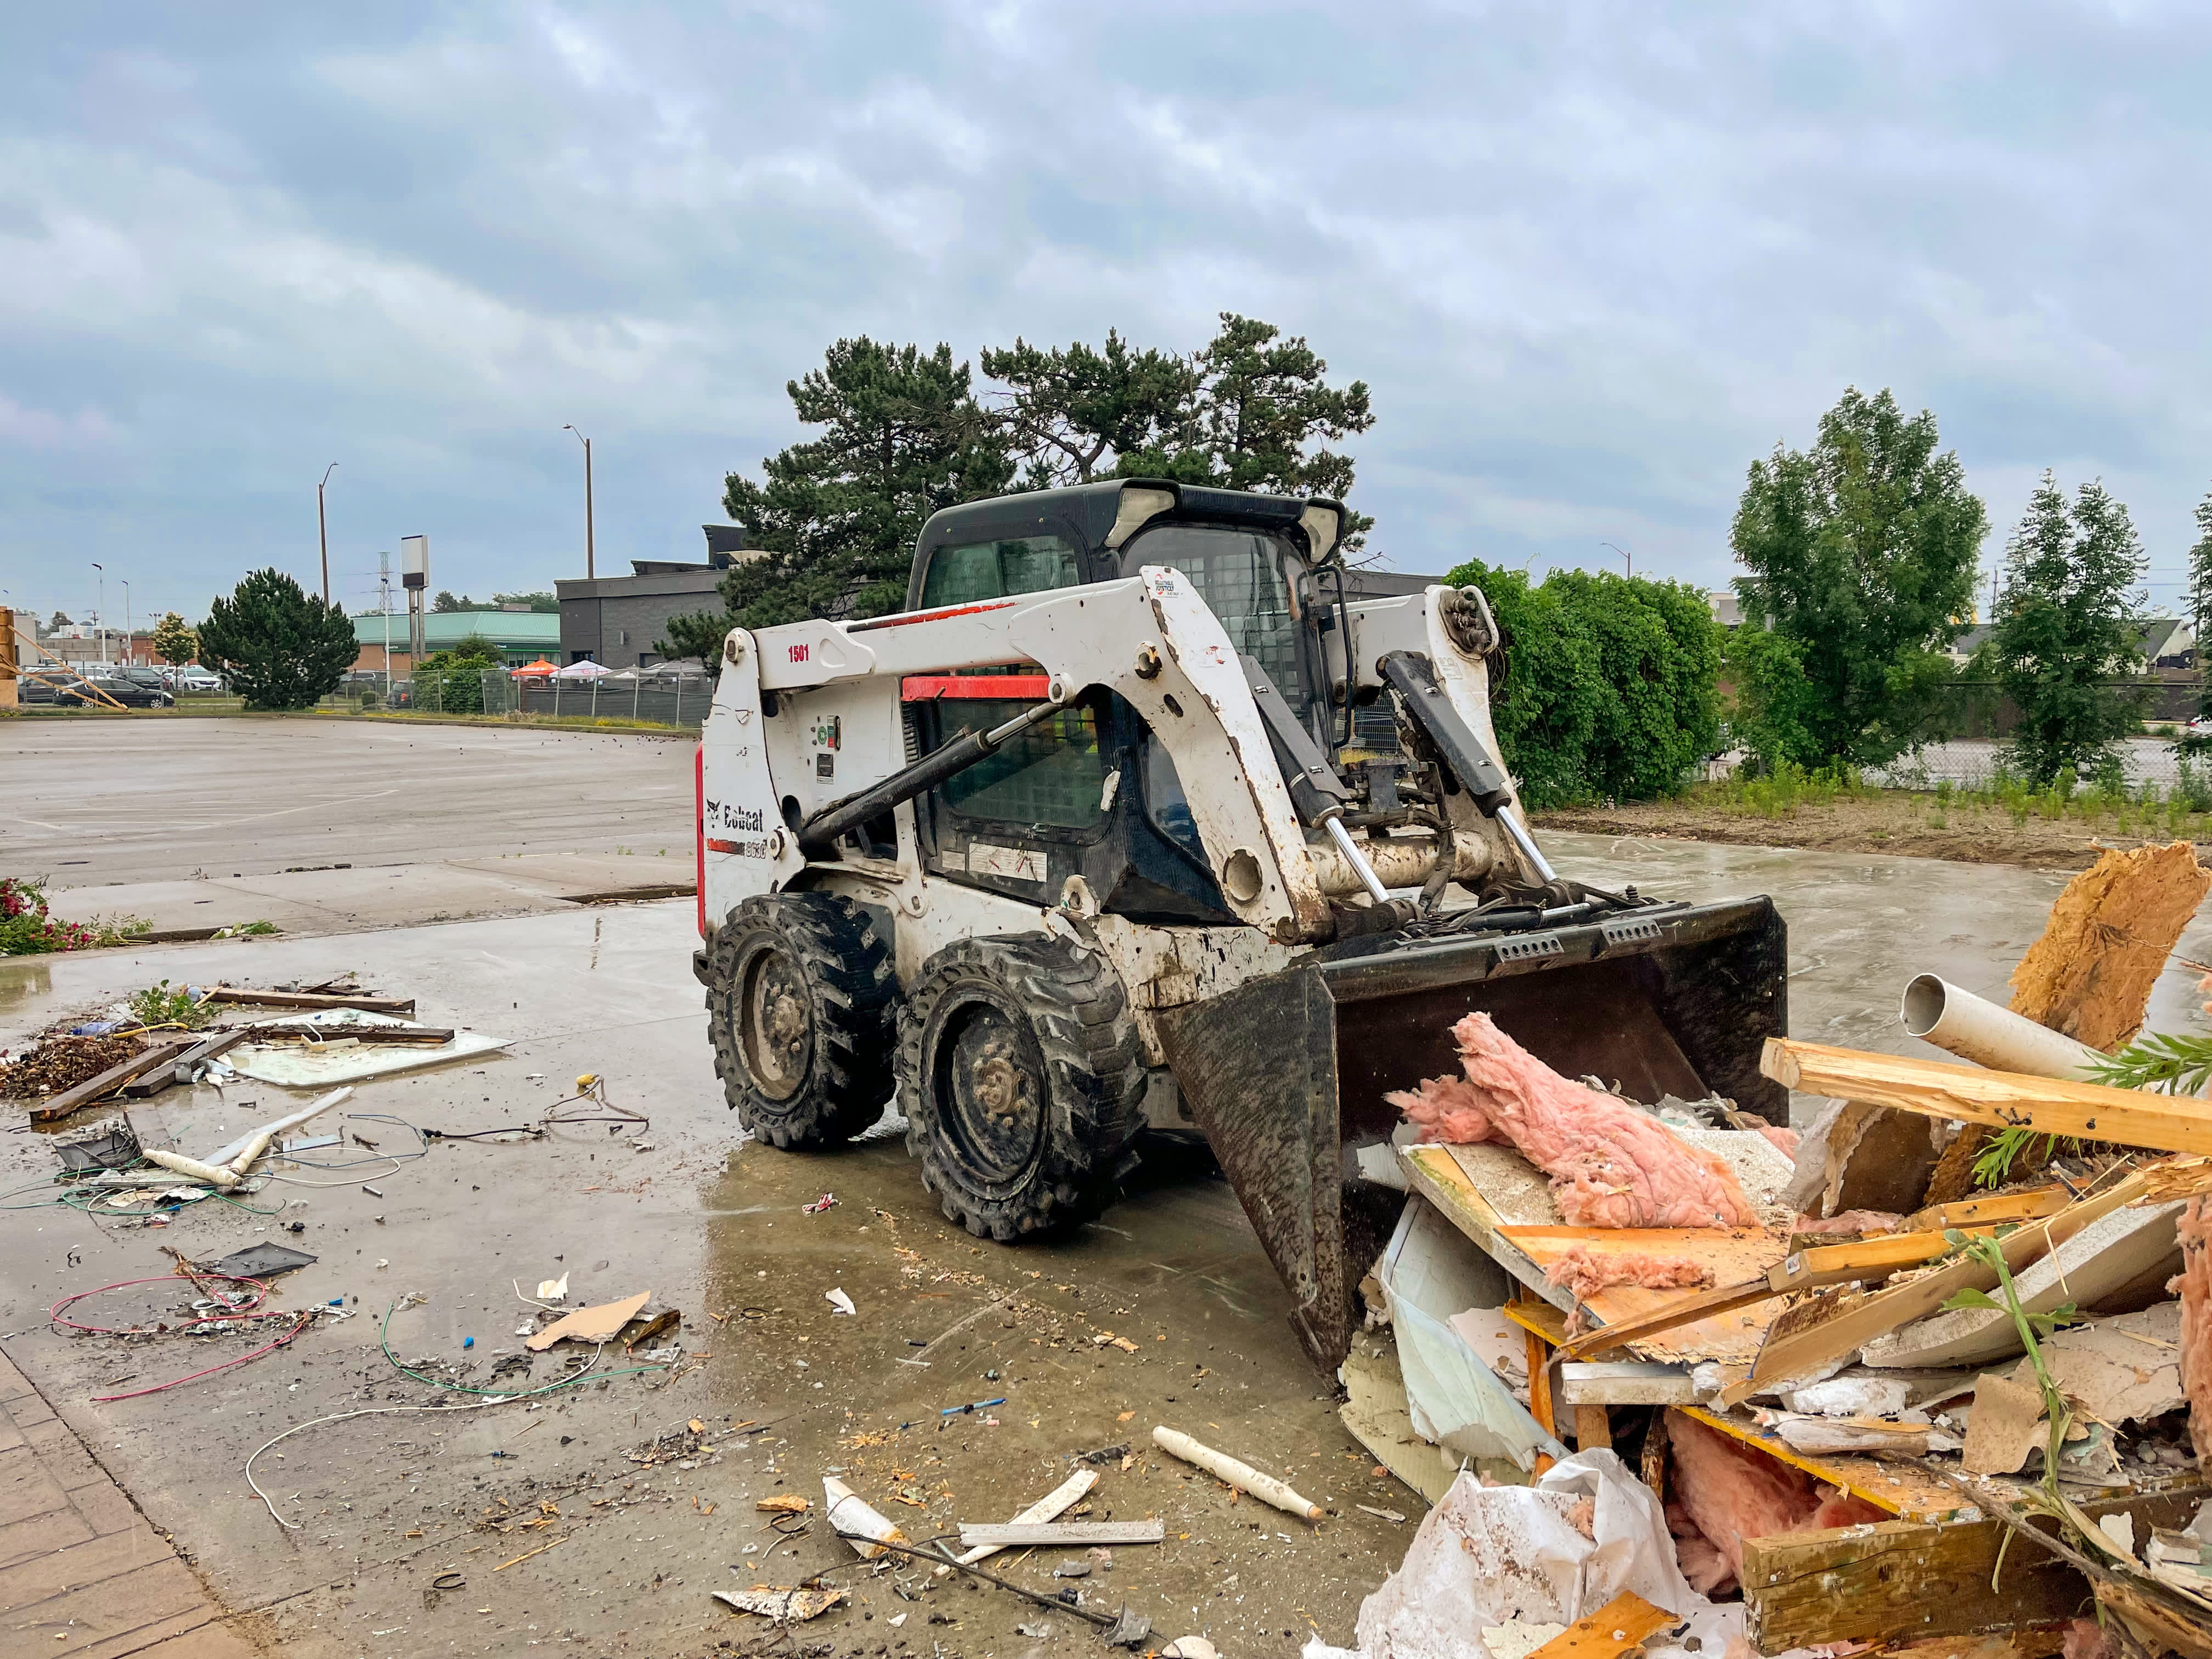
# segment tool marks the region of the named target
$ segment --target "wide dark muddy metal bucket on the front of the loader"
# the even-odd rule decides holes
[[[1352,1345],[1360,1274],[1405,1203],[1360,1179],[1356,1152],[1400,1121],[1385,1091],[1458,1075],[1451,1026],[1473,1009],[1555,1071],[1595,1073],[1632,1099],[1725,1095],[1772,1124],[1790,1117],[1790,1091],[1759,1075],[1761,1044],[1787,1033],[1785,929],[1767,898],[1531,933],[1354,940],[1161,1011],[1183,1099],[1323,1371]]]

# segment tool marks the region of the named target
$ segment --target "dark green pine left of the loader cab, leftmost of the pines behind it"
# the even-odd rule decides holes
[[[838,341],[785,392],[823,436],[728,476],[723,507],[763,557],[732,566],[730,615],[675,617],[657,650],[719,666],[732,619],[748,628],[830,613],[876,617],[907,597],[914,540],[940,507],[998,495],[1013,460],[949,345]]]

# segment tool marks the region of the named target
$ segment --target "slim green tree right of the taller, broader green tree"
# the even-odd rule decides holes
[[[2143,546],[2128,509],[2101,482],[2068,507],[2046,471],[2004,546],[2004,593],[1991,639],[1997,684],[2020,710],[2008,759],[2044,785],[2086,774],[2135,730],[2143,695],[2115,684],[2143,666]]]

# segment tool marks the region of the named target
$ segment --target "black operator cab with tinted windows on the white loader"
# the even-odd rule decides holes
[[[922,526],[907,608],[982,604],[1170,566],[1336,759],[1349,728],[1334,730],[1323,635],[1343,606],[1343,562],[1332,557],[1343,522],[1345,509],[1332,500],[1152,478],[964,502]],[[1332,577],[1336,593],[1325,597]],[[907,703],[909,754],[1000,726],[1031,701]],[[1104,911],[1130,920],[1237,922],[1166,745],[1102,688],[920,796],[916,825],[925,863],[949,880],[1055,902],[1064,883],[1082,876]]]

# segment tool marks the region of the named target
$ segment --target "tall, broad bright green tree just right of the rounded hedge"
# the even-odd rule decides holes
[[[1730,529],[1750,571],[1730,677],[1767,761],[1878,765],[1938,714],[1989,515],[1936,445],[1933,414],[1854,387],[1809,451],[1752,462]]]

